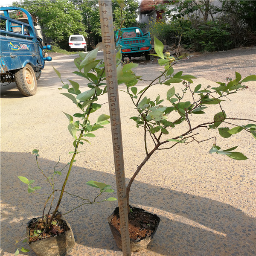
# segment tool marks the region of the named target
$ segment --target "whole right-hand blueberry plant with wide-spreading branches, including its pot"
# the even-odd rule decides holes
[[[132,69],[138,64],[134,63],[124,64],[118,77],[119,84],[125,83],[126,93],[131,99],[133,108],[137,110],[137,115],[132,116],[131,119],[134,120],[137,128],[143,130],[141,139],[144,141],[145,148],[145,157],[137,164],[126,187],[128,218],[129,222],[133,223],[129,227],[132,251],[143,250],[148,246],[160,221],[156,215],[131,207],[129,204],[130,189],[134,179],[156,151],[172,150],[179,144],[186,146],[188,143],[203,143],[206,140],[212,140],[213,145],[209,153],[221,154],[234,160],[246,160],[247,157],[244,154],[236,151],[238,146],[222,150],[217,144],[219,138],[212,135],[212,131],[218,130],[223,138],[230,138],[239,132],[248,132],[252,135],[252,139],[256,139],[256,121],[228,116],[223,105],[227,99],[232,100],[234,93],[243,93],[248,88],[245,85],[246,82],[256,81],[255,75],[242,79],[241,75],[236,72],[235,79],[227,78],[226,81],[217,82],[215,87],[202,84],[195,86],[194,76],[184,75],[182,71],[175,73],[173,66],[177,60],[169,52],[163,52],[163,44],[157,38],[154,38],[154,50],[156,53],[151,55],[157,57],[159,66],[163,67],[163,70],[155,73],[154,79],[149,81],[136,76]],[[147,83],[142,90],[136,87],[140,85],[140,81]],[[162,98],[160,95],[154,99],[149,98],[148,89],[157,84],[164,84],[170,88]],[[218,111],[213,118],[210,117],[208,111],[212,106],[218,106]],[[206,118],[201,119],[202,115]],[[239,125],[242,121],[247,123]],[[197,137],[202,129],[208,132],[209,137],[200,141]],[[108,223],[116,244],[122,249],[118,208],[108,217]],[[134,230],[136,224],[138,227]]]

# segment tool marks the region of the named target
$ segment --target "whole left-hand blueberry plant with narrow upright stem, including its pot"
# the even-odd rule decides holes
[[[42,215],[29,221],[29,223],[27,224],[27,237],[26,239],[22,239],[23,242],[28,241],[29,246],[35,253],[37,253],[37,255],[62,255],[73,247],[75,243],[73,232],[70,224],[67,222],[63,215],[73,211],[74,209],[84,204],[96,204],[104,201],[116,200],[116,198],[113,197],[99,199],[102,193],[112,193],[114,192],[114,190],[111,189],[111,186],[108,184],[96,182],[93,180],[87,182],[87,185],[99,189],[99,193],[97,193],[97,195],[93,199],[82,198],[79,195],[70,194],[65,189],[70,173],[72,172],[73,163],[76,161],[75,157],[77,154],[81,153],[81,151],[79,151],[80,147],[84,143],[90,143],[89,140],[96,136],[94,134],[95,131],[100,128],[104,128],[104,125],[107,125],[109,123],[108,119],[110,116],[106,114],[100,115],[95,123],[90,122],[90,116],[101,108],[101,105],[97,103],[98,97],[106,92],[106,84],[104,83],[105,67],[104,63],[102,63],[101,60],[96,60],[97,52],[98,49],[94,49],[89,53],[79,52],[79,58],[76,58],[74,60],[76,67],[79,70],[75,71],[74,73],[89,80],[89,83],[87,84],[89,90],[81,92],[80,86],[76,81],[69,80],[69,84],[65,84],[61,80],[63,83],[61,90],[67,90],[67,92],[61,94],[69,98],[77,106],[78,109],[78,113],[74,113],[73,115],[64,113],[69,120],[69,125],[67,127],[68,131],[73,137],[73,151],[70,152],[70,154],[72,155],[70,162],[67,163],[64,168],[59,168],[59,160],[52,169],[52,172],[49,174],[40,167],[38,161],[38,150],[33,150],[32,153],[35,154],[38,169],[50,188],[49,192],[47,193],[39,192],[41,187],[34,186],[35,180],[29,180],[28,178],[23,176],[18,177],[23,183],[28,186],[29,193],[47,196],[47,199],[42,209]],[[58,77],[61,79],[61,74],[58,72],[58,70],[56,70],[55,68],[54,70],[57,73]],[[60,175],[66,175],[66,177],[61,188],[56,189],[55,178],[56,176]],[[54,199],[57,192],[59,193],[58,201],[57,203],[55,203]],[[65,194],[81,199],[82,203],[74,209],[70,209],[68,212],[61,214],[58,210],[61,206],[61,202]],[[19,241],[16,241],[16,244],[18,242]],[[15,252],[15,255],[19,254],[20,251],[29,251],[24,247],[16,247],[17,250]]]

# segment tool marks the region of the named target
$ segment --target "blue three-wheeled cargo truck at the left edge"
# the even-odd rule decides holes
[[[0,11],[1,83],[15,82],[23,95],[32,96],[37,91],[36,80],[41,76],[44,62],[52,60],[44,52],[51,46],[42,45],[28,11],[20,7],[1,7]],[[28,23],[11,18],[18,12],[27,16]]]

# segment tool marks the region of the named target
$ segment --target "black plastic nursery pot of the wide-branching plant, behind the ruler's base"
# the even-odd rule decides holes
[[[151,225],[151,227],[153,229],[152,230],[153,232],[149,236],[146,236],[143,239],[140,239],[140,240],[136,239],[135,240],[135,239],[131,238],[131,230],[129,228],[131,251],[132,252],[138,252],[138,251],[146,249],[148,247],[148,244],[150,244],[151,240],[153,239],[154,234],[157,231],[157,227],[158,227],[158,225],[160,223],[160,218],[156,214],[152,214],[150,212],[145,212],[144,209],[136,208],[136,207],[131,207],[131,206],[130,206],[130,208],[133,209],[133,211],[138,210],[140,212],[144,212],[147,215],[150,215],[152,219],[154,219],[154,227],[149,222],[145,221],[145,223],[149,223]],[[116,241],[117,246],[122,250],[121,234],[120,234],[119,230],[116,227],[114,227],[113,224],[111,224],[112,219],[116,215],[119,216],[119,208],[118,207],[116,207],[116,209],[113,211],[113,213],[108,216],[108,224],[109,224],[109,227],[111,229],[111,233],[113,235],[113,238]],[[129,220],[129,225],[130,225],[130,220]]]

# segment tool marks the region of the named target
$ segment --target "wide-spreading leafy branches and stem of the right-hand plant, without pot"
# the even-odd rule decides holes
[[[244,83],[256,81],[255,75],[247,76],[242,79],[241,75],[236,72],[236,78],[234,80],[227,78],[226,82],[217,82],[216,87],[204,87],[202,84],[198,84],[194,88],[192,84],[193,79],[196,79],[195,76],[183,75],[183,71],[174,73],[173,65],[177,63],[177,60],[170,56],[169,52],[163,53],[163,44],[157,38],[154,38],[154,49],[156,54],[152,55],[159,58],[158,64],[163,66],[163,71],[160,71],[160,75],[157,75],[155,79],[151,81],[147,80],[148,85],[145,86],[143,90],[138,91],[136,87],[136,84],[142,81],[143,78],[136,76],[132,71],[134,67],[137,67],[137,64],[125,64],[119,72],[118,77],[119,83],[123,82],[126,84],[126,92],[130,96],[132,104],[137,109],[138,115],[132,116],[131,119],[136,122],[137,128],[140,127],[144,129],[146,152],[145,158],[137,166],[134,175],[127,185],[126,196],[128,206],[131,185],[142,167],[155,151],[171,149],[180,143],[186,145],[192,142],[201,143],[214,139],[214,144],[209,150],[209,153],[224,154],[235,160],[246,160],[247,157],[244,156],[244,154],[234,151],[238,146],[221,150],[221,148],[216,145],[216,137],[210,136],[210,130],[218,129],[220,136],[224,138],[232,137],[241,131],[250,132],[252,137],[256,138],[255,120],[227,117],[224,107],[222,106],[225,99],[229,99],[232,94],[240,93],[248,88]],[[145,82],[145,80],[143,81]],[[160,99],[160,95],[158,95],[156,99],[151,99],[146,96],[148,89],[157,84],[164,84],[166,86],[182,84],[181,93],[177,91],[177,87],[172,86],[167,91],[165,100]],[[190,96],[189,100],[188,96]],[[167,102],[167,105],[163,105],[163,102]],[[202,114],[207,115],[205,110],[210,108],[211,105],[218,106],[219,112],[215,113],[213,119],[209,119],[207,122],[201,122],[198,116]],[[228,120],[231,119],[233,122],[228,122]],[[235,121],[249,121],[252,123],[239,125]],[[183,122],[186,122],[186,125],[180,128],[179,125]],[[197,124],[193,126],[192,123]],[[227,125],[231,126],[227,127]],[[175,128],[180,131],[180,135],[166,139],[166,135],[172,134]],[[200,134],[201,128],[205,128],[209,131],[209,138],[199,141],[196,139],[196,136]],[[148,140],[154,143],[151,149],[148,148]],[[172,145],[163,147],[166,143],[172,143]]]

